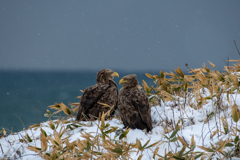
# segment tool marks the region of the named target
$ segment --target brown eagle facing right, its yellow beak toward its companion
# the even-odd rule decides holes
[[[96,120],[100,114],[110,109],[110,114],[105,118],[114,115],[118,101],[118,89],[113,81],[114,77],[119,77],[119,74],[110,69],[98,71],[97,83],[87,87],[82,94],[76,116],[77,121]]]

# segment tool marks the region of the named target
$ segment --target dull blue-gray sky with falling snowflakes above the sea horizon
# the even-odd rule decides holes
[[[240,58],[239,0],[3,0],[0,22],[0,70],[222,69]]]

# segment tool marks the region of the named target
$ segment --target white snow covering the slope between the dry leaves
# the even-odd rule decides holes
[[[208,95],[208,92],[205,91],[205,96]],[[223,106],[232,106],[236,104],[238,109],[240,109],[240,95],[233,94],[229,96],[229,100],[227,100],[227,95],[222,94],[222,104]],[[194,136],[194,140],[196,143],[196,149],[194,151],[201,151],[205,152],[199,146],[204,147],[211,147],[212,144],[216,144],[221,140],[226,140],[231,138],[231,132],[228,134],[224,134],[224,128],[221,121],[221,117],[226,117],[228,122],[228,128],[231,130],[233,126],[236,126],[236,123],[232,120],[232,109],[228,107],[226,110],[217,110],[216,104],[214,104],[214,100],[207,100],[206,104],[203,104],[203,107],[199,110],[195,110],[193,105],[197,106],[197,102],[195,99],[185,99],[177,97],[178,100],[176,101],[168,101],[168,102],[161,102],[161,105],[153,106],[151,108],[151,115],[153,121],[153,129],[151,133],[145,133],[139,129],[130,129],[127,137],[124,138],[124,141],[128,143],[136,143],[136,140],[140,140],[141,144],[145,144],[149,139],[149,145],[155,142],[163,142],[168,141],[167,137],[172,134],[171,126],[175,128],[177,123],[182,125],[181,129],[177,132],[176,137],[181,137],[187,144],[191,144],[191,139]],[[186,102],[186,103],[185,103]],[[190,107],[190,104],[192,105]],[[215,115],[212,117],[209,116],[211,113],[214,112]],[[207,119],[209,121],[206,121]],[[60,132],[61,126],[63,128],[67,128],[67,125],[71,124],[73,119],[69,119],[69,122],[66,124],[60,124],[56,129],[57,132]],[[181,121],[179,121],[181,120]],[[81,127],[74,128],[73,130],[68,129],[64,134],[63,138],[69,136],[69,141],[75,141],[77,139],[82,140],[82,134],[85,132],[90,133],[92,136],[96,136],[100,134],[98,125],[99,122],[81,122]],[[123,128],[123,124],[118,119],[112,119],[110,121],[105,121],[105,123],[109,123],[112,127]],[[239,123],[239,122],[238,122]],[[56,125],[55,125],[56,127]],[[237,126],[239,129],[239,125]],[[41,123],[41,128],[46,131],[47,135],[53,135],[54,131],[49,127],[49,122]],[[167,130],[169,132],[167,133]],[[214,135],[214,131],[218,130],[219,132]],[[220,131],[222,133],[220,133]],[[26,135],[29,135],[32,142],[24,142],[21,139],[26,139]],[[36,146],[41,148],[41,141],[40,141],[41,130],[40,127],[38,129],[28,129],[25,131],[21,131],[7,137],[3,137],[0,139],[0,159],[2,158],[9,158],[9,159],[22,159],[22,160],[42,160],[36,152],[29,150],[28,146]],[[165,136],[164,136],[165,135]],[[110,133],[109,137],[114,139],[115,132]],[[233,137],[234,139],[234,137]],[[22,141],[22,142],[20,142]],[[49,142],[50,143],[50,142]],[[156,147],[159,147],[158,154],[161,156],[165,155],[166,151],[176,152],[182,149],[182,143],[179,141],[177,142],[170,142],[170,143],[159,143],[160,145],[151,147],[149,149],[145,149],[142,153],[142,159],[154,159],[153,152]],[[230,150],[231,147],[226,147],[225,150]],[[131,153],[132,159],[137,159],[141,155],[141,152],[137,154],[137,152]],[[214,155],[214,157],[219,157],[221,155]],[[159,157],[155,157],[157,159]],[[219,157],[222,158],[222,157]],[[235,158],[239,159],[239,158]]]

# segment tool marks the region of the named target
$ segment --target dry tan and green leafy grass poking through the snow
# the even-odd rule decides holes
[[[240,111],[238,110],[238,106],[230,100],[232,95],[240,94],[240,77],[238,74],[235,74],[240,71],[240,60],[234,60],[234,62],[236,63],[233,66],[224,67],[224,73],[220,73],[216,70],[215,65],[211,62],[209,63],[213,67],[212,70],[203,64],[202,68],[189,69],[190,75],[184,75],[180,68],[175,69],[175,73],[163,73],[162,71],[160,71],[159,75],[146,73],[148,78],[153,79],[155,86],[150,87],[145,81],[143,81],[142,84],[144,91],[149,96],[149,101],[152,106],[172,101],[174,102],[172,103],[172,108],[178,106],[184,112],[187,105],[194,110],[203,110],[203,105],[209,103],[208,100],[211,100],[213,103],[212,106],[215,106],[215,108],[211,113],[205,113],[207,114],[207,118],[204,121],[204,124],[207,124],[210,119],[215,118],[216,120],[216,130],[212,132],[211,136],[214,137],[225,134],[231,135],[229,137],[234,138],[219,140],[218,143],[211,144],[210,147],[205,147],[204,145],[196,146],[194,136],[192,136],[191,142],[187,143],[184,137],[181,137],[178,134],[184,125],[183,120],[173,122],[168,119],[162,119],[155,125],[164,127],[164,141],[159,140],[155,143],[149,144],[149,140],[145,144],[141,144],[141,141],[136,139],[135,143],[128,143],[125,140],[125,137],[128,136],[130,129],[119,129],[118,127],[111,127],[108,123],[105,123],[105,116],[108,113],[101,115],[101,118],[98,121],[91,122],[96,123],[98,126],[96,136],[92,136],[92,134],[82,131],[81,140],[76,139],[70,141],[69,137],[71,135],[67,134],[69,130],[87,126],[86,124],[74,121],[73,115],[77,111],[78,103],[71,103],[71,108],[63,103],[49,106],[51,109],[56,110],[54,113],[47,110],[44,115],[49,118],[48,127],[51,128],[52,134],[47,134],[41,124],[35,124],[30,126],[29,129],[37,130],[40,128],[41,135],[36,138],[26,134],[19,138],[19,141],[22,143],[31,143],[40,139],[41,147],[28,146],[28,149],[36,152],[42,158],[47,160],[131,159],[130,155],[133,152],[139,155],[138,159],[141,159],[143,157],[143,152],[146,149],[151,149],[153,159],[210,159],[214,155],[230,159],[234,156],[240,156],[240,130],[237,126],[237,122],[240,118]],[[167,78],[167,76],[169,76],[169,78]],[[206,91],[209,91],[210,93],[208,96],[204,96],[204,92]],[[227,95],[229,104],[232,105],[225,105],[222,103],[223,94]],[[180,98],[184,100],[182,103],[179,103]],[[193,99],[196,103],[193,103]],[[217,115],[220,116],[220,113],[229,109],[232,111],[232,120],[236,123],[236,126],[233,126],[231,129],[226,117],[221,116],[219,120],[217,119]],[[52,120],[52,117],[61,111],[63,111],[70,120]],[[159,116],[161,115],[159,114]],[[194,123],[191,117],[188,117],[188,119]],[[218,128],[217,123],[221,123],[224,130]],[[64,127],[62,124],[66,124],[65,126],[67,127]],[[0,132],[6,136],[5,129],[2,129]],[[109,134],[113,132],[116,135],[114,139],[109,136]],[[168,134],[170,132],[171,134]],[[167,151],[165,149],[165,154],[159,155],[159,146],[170,146],[171,143],[175,143],[182,148],[175,151],[171,149]],[[200,148],[204,152],[196,151],[196,148]]]

